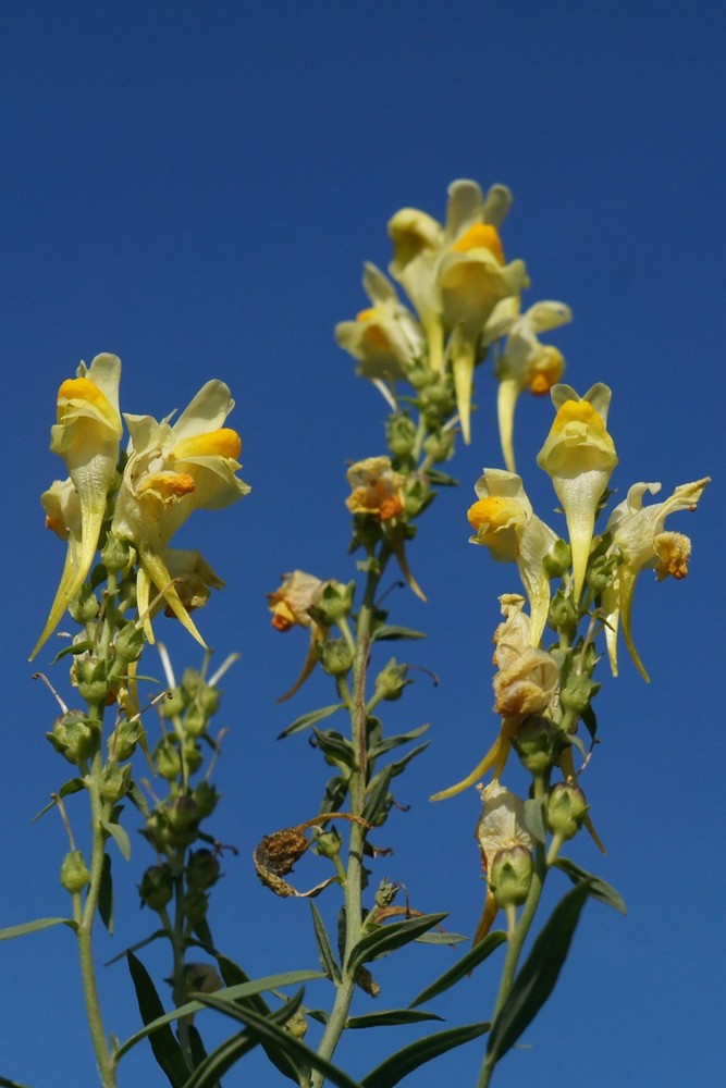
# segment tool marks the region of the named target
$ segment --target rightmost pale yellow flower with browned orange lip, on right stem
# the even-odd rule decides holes
[[[637,483],[628,491],[623,503],[615,507],[606,527],[612,534],[613,547],[622,555],[622,564],[614,579],[602,594],[606,618],[605,638],[613,676],[617,676],[617,631],[623,627],[625,644],[638,671],[648,680],[648,672],[632,641],[632,596],[638,576],[648,568],[655,569],[659,581],[670,574],[675,579],[688,573],[690,541],[682,533],[664,531],[665,519],[678,510],[694,510],[710,478],[680,484],[663,503],[643,506],[647,492],[661,490],[660,483]]]

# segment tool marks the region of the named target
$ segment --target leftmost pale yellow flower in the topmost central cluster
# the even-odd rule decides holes
[[[335,339],[358,360],[357,373],[361,378],[403,380],[422,353],[421,326],[374,264],[365,265],[364,288],[371,306],[361,310],[355,321],[340,321]]]

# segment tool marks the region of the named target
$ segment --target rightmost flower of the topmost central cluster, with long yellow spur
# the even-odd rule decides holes
[[[515,471],[513,430],[514,413],[524,390],[534,396],[549,393],[565,369],[562,353],[552,344],[542,344],[539,334],[573,320],[573,311],[564,302],[536,302],[525,313],[515,317],[508,329],[507,342],[496,362],[499,379],[497,415],[504,463]]]

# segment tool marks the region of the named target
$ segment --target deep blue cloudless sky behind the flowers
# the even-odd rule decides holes
[[[629,915],[587,908],[555,996],[496,1084],[724,1081],[715,694],[725,23],[711,0],[2,5],[0,926],[66,907],[60,821],[29,824],[65,774],[42,737],[54,705],[26,663],[63,558],[38,496],[62,474],[48,452],[58,385],[79,359],[113,351],[125,411],[164,416],[212,376],[237,401],[231,422],[253,493],[199,516],[183,541],[227,582],[200,616],[204,633],[220,656],[242,655],[224,685],[220,725],[230,733],[216,821],[241,854],[225,866],[211,920],[250,975],[316,966],[307,905],[273,900],[249,853],[263,834],[317,812],[319,759],[299,738],[274,738],[331,692],[316,676],[294,703],[275,705],[305,642],[271,630],[263,594],[295,567],[353,577],[345,465],[382,450],[384,406],[354,376],[332,329],[365,305],[362,261],[385,267],[386,220],[405,205],[442,218],[455,177],[503,182],[515,196],[504,244],[527,261],[528,300],[562,299],[575,313],[557,336],[567,380],[580,392],[595,381],[614,390],[619,497],[638,480],[662,481],[668,493],[705,474],[714,482],[698,515],[670,523],[694,542],[687,581],[659,586],[647,576],[638,585],[636,632],[652,683],[628,662],[617,681],[601,677],[602,744],[587,792],[608,853],[600,858],[578,841],[573,855],[618,888]],[[410,548],[429,604],[405,593],[392,601],[401,622],[430,632],[408,659],[441,683],[433,689],[421,672],[393,707],[392,726],[430,720],[432,744],[403,779],[410,811],[385,828],[395,853],[379,875],[403,881],[418,908],[450,910],[462,932],[472,931],[482,898],[478,801],[473,792],[435,806],[427,799],[473,766],[496,728],[491,633],[497,594],[517,585],[513,570],[467,545],[465,520],[482,466],[500,463],[494,398],[482,368],[475,440],[453,469],[462,487],[436,500]],[[553,522],[556,500],[533,463],[550,421],[547,405],[522,403],[517,438],[528,491]],[[180,671],[198,663],[189,640],[173,630],[164,638]],[[67,695],[63,669],[51,675]],[[150,927],[134,888],[150,861],[140,840],[125,870],[119,860],[126,910],[114,940],[99,941],[101,959]],[[300,874],[315,882],[312,866]],[[0,1074],[36,1088],[94,1083],[74,955],[60,931],[0,947]],[[381,1007],[410,1000],[447,955],[414,950],[382,964]],[[165,973],[161,960],[150,963]],[[124,1036],[135,1014],[123,968],[108,968],[102,985],[118,1009],[109,1026]],[[487,1018],[493,985],[480,970],[436,1011],[452,1023]],[[362,1075],[373,1051],[394,1046],[354,1040],[342,1062]],[[472,1084],[478,1061],[475,1043],[413,1077],[411,1088]],[[149,1062],[130,1060],[121,1083],[160,1083]],[[276,1083],[254,1068],[262,1088]],[[237,1075],[230,1084],[242,1083]]]

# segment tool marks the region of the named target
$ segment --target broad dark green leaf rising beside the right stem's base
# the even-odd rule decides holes
[[[552,993],[589,894],[590,888],[585,882],[568,891],[534,941],[509,997],[494,1021],[487,1047],[487,1053],[494,1062],[499,1062],[515,1044]]]

